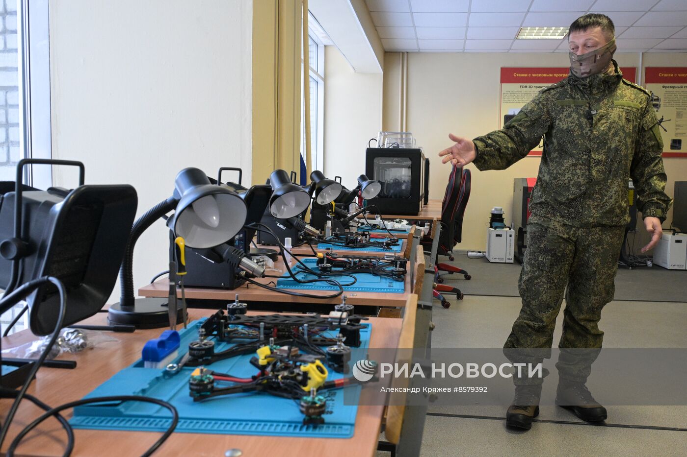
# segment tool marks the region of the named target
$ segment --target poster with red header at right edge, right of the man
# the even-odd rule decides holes
[[[644,85],[661,122],[664,157],[687,157],[687,67],[646,67]]]

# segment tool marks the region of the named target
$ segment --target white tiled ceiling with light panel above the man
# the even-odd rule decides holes
[[[616,25],[618,52],[686,52],[687,0],[365,0],[387,51],[567,52],[567,40],[515,40],[587,12]]]

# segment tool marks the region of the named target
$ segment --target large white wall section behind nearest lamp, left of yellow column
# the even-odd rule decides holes
[[[51,0],[53,158],[83,161],[87,184],[133,185],[138,215],[184,167],[243,167],[250,181],[251,21],[251,0]],[[75,183],[56,167],[54,185]],[[155,222],[136,289],[167,269],[167,247]]]

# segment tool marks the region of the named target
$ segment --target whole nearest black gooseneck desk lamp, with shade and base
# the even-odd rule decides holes
[[[109,309],[113,324],[159,328],[169,325],[168,298],[135,298],[133,288],[133,250],[138,238],[156,220],[170,211],[168,220],[174,236],[183,237],[190,248],[212,248],[231,239],[246,219],[246,204],[236,192],[210,183],[198,168],[185,168],[174,179],[174,193],[149,209],[134,222],[120,268],[120,303]],[[183,320],[181,307],[177,320]]]

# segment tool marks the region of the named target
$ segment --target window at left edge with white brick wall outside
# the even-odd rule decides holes
[[[0,0],[0,180],[14,181],[24,157],[49,159],[50,144],[48,0]],[[24,183],[52,185],[52,167],[32,168]],[[22,308],[0,317],[3,333]],[[25,313],[10,333],[25,329],[27,320]]]

